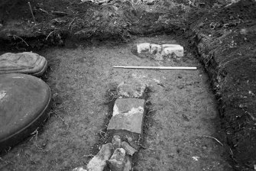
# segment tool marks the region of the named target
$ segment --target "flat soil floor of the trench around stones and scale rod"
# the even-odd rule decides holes
[[[184,47],[179,59],[156,61],[134,55],[138,43]],[[107,92],[120,82],[147,84],[151,102],[141,150],[133,170],[232,170],[215,97],[203,66],[181,37],[133,37],[124,44],[92,40],[76,48],[36,51],[49,69],[44,81],[53,93],[50,118],[39,131],[1,156],[3,170],[70,170],[85,166],[105,144],[110,118]],[[198,69],[113,69],[112,66],[196,66]]]

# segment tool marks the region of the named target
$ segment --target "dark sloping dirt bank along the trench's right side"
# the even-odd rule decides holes
[[[256,165],[256,2],[215,9],[192,24],[200,59],[221,102],[230,154],[241,168]]]

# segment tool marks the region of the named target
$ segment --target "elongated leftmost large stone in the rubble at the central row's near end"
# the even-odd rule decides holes
[[[99,153],[87,164],[88,171],[102,171],[106,166],[105,161],[109,160],[112,155],[112,148],[111,143],[102,145],[102,149],[99,150]]]

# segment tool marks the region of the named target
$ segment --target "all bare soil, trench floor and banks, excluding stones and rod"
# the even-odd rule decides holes
[[[155,110],[147,114],[134,170],[256,168],[254,0],[30,3],[35,22],[28,0],[0,2],[0,54],[33,50],[45,56],[49,67],[42,79],[53,92],[53,107],[44,126],[2,151],[1,170],[86,165],[105,143],[109,90],[131,79],[151,86]],[[182,60],[154,61],[131,52],[137,43],[173,40],[186,50]]]

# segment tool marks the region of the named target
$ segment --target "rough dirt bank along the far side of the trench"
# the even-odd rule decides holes
[[[163,8],[163,5],[167,6]],[[42,44],[64,44],[66,37],[73,40],[91,37],[127,40],[130,34],[170,32],[184,24],[187,7],[174,2],[151,6],[129,1],[97,5],[78,0],[35,0],[31,2],[35,22],[27,2],[13,5],[6,2],[0,8],[0,39],[11,40],[4,43],[28,50]],[[31,40],[36,41],[29,44]],[[40,44],[37,40],[41,40]]]

